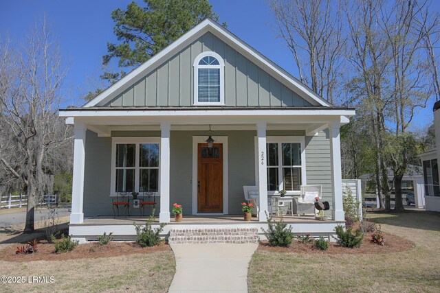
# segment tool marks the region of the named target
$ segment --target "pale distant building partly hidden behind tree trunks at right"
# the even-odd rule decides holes
[[[369,182],[373,182],[373,184],[375,184],[374,174],[363,174],[359,176],[359,179],[361,180],[363,194],[366,194],[366,189]],[[393,181],[393,179],[394,172],[392,169],[388,169],[388,180],[390,181],[390,183],[391,181]],[[412,190],[410,190],[411,187]],[[406,168],[406,173],[402,178],[402,191],[404,194],[407,194],[408,191],[414,192],[415,207],[425,207],[425,185],[423,182],[423,174],[421,172],[420,166],[408,165],[408,167]]]

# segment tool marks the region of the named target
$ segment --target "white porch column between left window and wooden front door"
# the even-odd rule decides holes
[[[170,222],[170,124],[160,124],[160,213],[159,222]]]

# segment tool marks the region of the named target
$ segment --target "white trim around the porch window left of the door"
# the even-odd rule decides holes
[[[160,196],[160,137],[112,137],[111,139],[111,178],[110,178],[110,196],[116,196],[116,145],[117,144],[135,144],[135,192],[139,192],[140,180],[140,147],[142,143],[157,143],[159,145],[159,176],[157,182],[157,192],[154,196]]]

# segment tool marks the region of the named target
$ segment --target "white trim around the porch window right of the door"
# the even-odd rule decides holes
[[[267,143],[300,143],[301,146],[301,185],[307,185],[307,174],[306,174],[306,161],[305,161],[305,137],[302,136],[287,136],[287,137],[266,137],[266,144]],[[258,154],[258,137],[254,137],[254,147],[255,147],[255,184],[258,185],[259,182],[259,158],[257,157]],[[266,147],[267,148],[267,147]],[[281,150],[278,148],[278,160],[283,160],[283,158],[280,156]],[[266,154],[267,156],[267,154]],[[270,166],[266,166],[267,168]],[[281,167],[283,169],[283,165],[278,165],[278,169]],[[286,166],[287,167],[287,166]],[[278,181],[280,178],[283,178],[283,176],[278,176]],[[287,196],[298,196],[300,194],[300,190],[298,191],[287,191]],[[269,191],[267,190],[267,196],[277,196],[277,191]]]

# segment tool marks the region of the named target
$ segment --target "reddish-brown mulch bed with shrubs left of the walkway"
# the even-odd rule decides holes
[[[47,242],[39,243],[38,251],[29,255],[16,255],[17,246],[24,244],[12,244],[0,250],[2,261],[64,261],[67,259],[97,259],[100,257],[117,257],[120,255],[131,255],[135,253],[155,253],[157,251],[170,250],[170,246],[161,242],[157,246],[142,248],[135,242],[110,242],[107,245],[100,245],[97,242],[80,244],[67,253],[55,253],[55,245]]]

